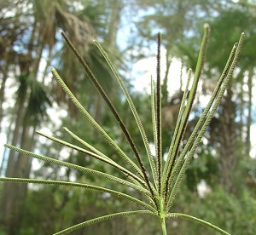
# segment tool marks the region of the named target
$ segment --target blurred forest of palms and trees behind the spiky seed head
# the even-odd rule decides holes
[[[165,52],[162,64],[166,67],[162,72],[163,144],[167,151],[183,91],[184,73],[189,67],[195,71],[205,22],[211,26],[211,39],[199,96],[189,121],[190,130],[241,32],[246,33],[246,41],[230,87],[189,165],[172,212],[195,215],[231,234],[256,234],[256,152],[253,146],[256,138],[256,1],[1,0],[1,142],[116,175],[113,169],[95,159],[80,156],[78,152],[35,135],[35,130],[40,129],[73,142],[62,130],[66,126],[107,156],[118,158],[55,83],[49,74],[49,66],[55,66],[92,117],[121,143],[125,152],[131,152],[129,145],[122,143],[124,136],[118,124],[59,31],[67,32],[83,54],[118,107],[137,146],[143,146],[140,145],[142,140],[124,95],[91,42],[97,38],[108,51],[135,100],[149,140],[153,140],[150,98],[145,89],[136,85],[135,81],[142,79],[143,72],[134,72],[134,65],[146,61],[148,70],[155,66],[147,61],[156,54],[156,34],[162,32]],[[177,60],[182,64],[180,75],[173,77],[170,68]],[[148,83],[149,79],[141,83]],[[175,92],[171,92],[172,83],[179,84]],[[112,182],[91,175],[32,161],[2,147],[0,150],[3,152],[1,176],[78,181],[117,188]],[[142,147],[139,151],[145,150]],[[96,216],[134,207],[106,193],[67,186],[1,183],[0,193],[1,235],[52,234]],[[167,221],[167,229],[172,234],[215,234],[191,221]],[[73,234],[160,234],[160,225],[150,216],[134,216],[103,222]]]

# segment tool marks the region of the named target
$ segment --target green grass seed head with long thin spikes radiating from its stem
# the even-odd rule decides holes
[[[20,182],[20,183],[32,183],[32,184],[49,184],[53,186],[73,186],[79,187],[86,190],[94,190],[97,192],[103,192],[104,194],[112,196],[117,196],[119,198],[126,199],[130,203],[135,203],[136,207],[133,206],[131,209],[126,211],[115,212],[108,215],[96,215],[95,219],[86,218],[83,222],[77,222],[76,225],[67,227],[61,232],[56,232],[55,234],[65,234],[67,232],[73,232],[77,229],[81,229],[84,226],[90,226],[101,221],[108,221],[113,218],[126,217],[130,215],[151,215],[155,216],[160,221],[160,226],[162,234],[166,234],[166,219],[186,219],[191,221],[196,221],[201,225],[207,226],[217,232],[222,234],[230,234],[220,229],[218,226],[214,226],[207,221],[203,221],[194,216],[175,213],[172,212],[172,204],[176,198],[177,191],[183,180],[183,176],[186,170],[189,167],[189,163],[193,156],[195,155],[195,150],[200,144],[201,138],[204,135],[208,124],[212,120],[213,114],[216,112],[216,109],[220,103],[221,98],[224,95],[224,91],[227,88],[232,73],[235,69],[237,59],[241,53],[241,46],[243,43],[244,33],[241,34],[239,43],[236,43],[231,50],[230,58],[228,59],[224,72],[218,80],[217,86],[212,93],[212,97],[209,100],[207,107],[204,112],[201,114],[198,122],[195,125],[195,129],[189,135],[189,140],[181,148],[183,143],[183,136],[188,127],[189,114],[192,110],[192,106],[195,100],[195,94],[197,90],[197,85],[199,78],[201,76],[201,71],[204,65],[207,52],[207,43],[209,41],[210,29],[209,26],[205,25],[204,27],[204,36],[201,43],[201,49],[199,57],[197,60],[197,65],[195,67],[195,76],[192,82],[190,82],[192,77],[191,70],[189,71],[188,82],[183,94],[183,100],[181,102],[180,111],[177,117],[177,125],[172,136],[172,142],[167,154],[166,162],[164,162],[163,151],[162,151],[162,133],[161,133],[161,86],[160,86],[160,34],[158,35],[158,50],[157,50],[157,78],[154,85],[152,79],[151,83],[151,109],[152,109],[152,127],[154,135],[154,147],[155,154],[151,151],[149,147],[148,136],[145,133],[142,120],[140,119],[137,109],[134,105],[134,102],[131,100],[131,96],[128,90],[125,87],[125,83],[119,77],[119,73],[113,66],[112,61],[108,58],[108,55],[102,49],[100,43],[95,41],[96,47],[102,53],[103,57],[108,63],[108,66],[113,72],[113,76],[117,79],[120,88],[123,90],[125,98],[131,108],[131,112],[137,123],[137,129],[140,132],[141,138],[143,140],[143,146],[147,153],[148,164],[147,168],[144,163],[145,159],[141,157],[140,152],[137,150],[137,143],[132,139],[129,130],[127,129],[124,121],[119,116],[119,113],[116,111],[113,106],[113,102],[106,94],[105,90],[102,88],[102,85],[98,82],[95,75],[91,72],[89,66],[84,61],[83,57],[79,54],[79,51],[74,48],[73,43],[69,40],[67,35],[64,32],[61,32],[62,36],[66,40],[70,49],[73,50],[73,53],[76,55],[80,64],[84,67],[84,71],[87,76],[90,78],[90,81],[94,84],[99,94],[102,95],[103,100],[105,100],[109,110],[113,113],[113,117],[119,124],[124,138],[127,140],[131,152],[133,152],[133,158],[130,158],[129,155],[124,152],[122,149],[122,143],[119,143],[117,140],[114,140],[113,137],[108,135],[107,131],[102,128],[102,126],[96,122],[96,120],[90,115],[88,111],[84,109],[84,106],[79,102],[79,100],[73,95],[72,91],[67,87],[67,84],[63,82],[58,72],[55,68],[51,68],[53,77],[61,85],[61,88],[65,91],[70,100],[73,101],[73,104],[79,109],[79,112],[83,114],[85,119],[96,129],[96,131],[106,140],[109,146],[113,147],[114,152],[117,153],[119,158],[122,159],[122,163],[119,163],[119,159],[116,161],[112,156],[106,156],[103,151],[98,150],[95,146],[91,146],[88,142],[80,139],[78,135],[71,132],[69,129],[64,128],[68,135],[72,136],[74,140],[79,142],[79,146],[69,143],[65,140],[59,138],[45,135],[44,133],[38,132],[39,135],[43,135],[49,140],[53,140],[62,146],[73,149],[74,151],[83,153],[84,156],[89,156],[90,158],[96,158],[97,160],[108,164],[113,167],[116,171],[119,172],[118,176],[108,174],[101,170],[90,169],[88,167],[79,166],[74,163],[67,163],[62,160],[57,160],[55,158],[45,157],[40,154],[22,150],[16,146],[11,146],[6,144],[5,146],[11,150],[20,152],[22,155],[26,155],[32,158],[38,158],[47,163],[54,163],[59,166],[67,167],[68,169],[74,169],[85,173],[85,175],[96,175],[99,178],[104,180],[112,181],[112,186],[116,185],[117,189],[110,189],[108,186],[97,186],[90,185],[86,183],[78,183],[72,181],[49,181],[49,180],[36,180],[36,179],[19,179],[19,178],[0,178],[0,181],[10,181],[10,182]],[[191,89],[189,90],[189,85]],[[83,146],[83,147],[80,147]],[[154,157],[155,155],[155,157]],[[120,176],[121,175],[121,176]],[[136,193],[135,193],[136,192]],[[67,197],[68,195],[63,197]],[[100,198],[102,200],[102,198]],[[55,198],[56,203],[61,205],[61,202],[65,202],[62,196],[61,198]],[[69,201],[72,201],[71,199]],[[138,207],[138,209],[137,209]],[[64,218],[65,221],[68,221],[68,218]],[[69,223],[68,223],[69,224]],[[58,228],[54,228],[57,230]]]

